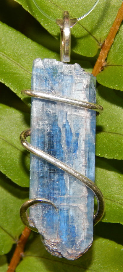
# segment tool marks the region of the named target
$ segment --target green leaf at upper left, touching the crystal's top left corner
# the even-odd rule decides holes
[[[23,100],[21,90],[31,88],[33,60],[39,57],[59,59],[59,54],[0,23],[0,81]]]

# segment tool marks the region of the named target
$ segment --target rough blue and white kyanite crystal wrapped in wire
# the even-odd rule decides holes
[[[35,59],[32,89],[96,102],[96,78],[78,64]],[[94,181],[95,122],[92,110],[32,98],[31,144]],[[31,154],[30,198],[43,197],[51,205],[30,208],[43,243],[51,254],[75,260],[93,240],[93,193],[82,182]]]

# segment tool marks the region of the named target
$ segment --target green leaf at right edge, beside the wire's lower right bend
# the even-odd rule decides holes
[[[123,224],[123,161],[96,158],[95,182],[106,202],[103,222]]]

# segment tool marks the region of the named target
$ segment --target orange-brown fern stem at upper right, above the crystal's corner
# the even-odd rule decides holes
[[[98,75],[99,72],[101,72],[101,70],[103,69],[103,66],[105,65],[105,59],[107,57],[107,54],[111,48],[113,41],[114,41],[116,33],[119,30],[119,26],[120,26],[122,20],[123,20],[123,2],[122,2],[122,5],[121,5],[118,13],[117,13],[114,23],[110,29],[110,32],[102,45],[100,54],[98,56],[95,66],[93,68],[92,74],[95,77],[96,77],[96,75]]]

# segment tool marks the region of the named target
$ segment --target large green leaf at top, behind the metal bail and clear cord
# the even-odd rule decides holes
[[[29,0],[16,0],[33,15],[41,25],[48,30],[51,35],[56,38],[59,37],[59,27],[55,22],[47,19],[35,7],[33,1]],[[71,17],[81,17],[95,3],[94,0],[76,2],[61,1],[61,0],[36,0],[43,12],[53,17],[54,19],[62,18],[62,12],[68,10]],[[82,21],[79,21],[72,29],[73,43],[72,50],[83,56],[95,56],[98,48],[101,47],[101,42],[106,38],[109,33],[110,27],[116,17],[122,0],[106,1],[101,0],[95,9]]]

